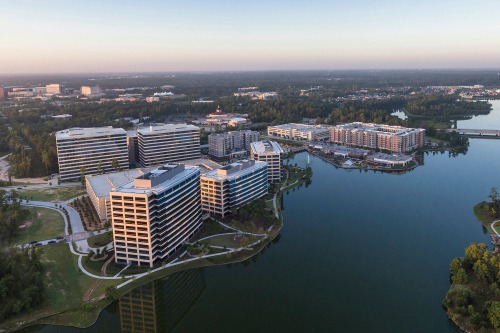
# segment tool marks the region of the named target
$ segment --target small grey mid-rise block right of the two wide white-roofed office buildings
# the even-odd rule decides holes
[[[250,144],[259,141],[257,131],[231,131],[226,133],[210,134],[208,136],[208,153],[215,159],[232,158],[250,152]]]

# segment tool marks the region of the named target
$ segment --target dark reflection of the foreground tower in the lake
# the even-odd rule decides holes
[[[191,269],[134,289],[119,299],[122,333],[170,332],[205,289],[203,269]]]

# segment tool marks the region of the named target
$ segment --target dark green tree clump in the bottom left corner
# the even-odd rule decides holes
[[[36,249],[0,253],[0,322],[43,302],[43,267]]]

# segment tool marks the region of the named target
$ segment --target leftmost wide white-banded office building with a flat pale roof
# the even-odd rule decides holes
[[[70,128],[56,132],[59,177],[77,181],[82,171],[94,175],[129,168],[127,133],[122,128]]]

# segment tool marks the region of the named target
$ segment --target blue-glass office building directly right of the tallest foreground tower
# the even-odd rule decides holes
[[[213,215],[226,216],[267,193],[267,164],[244,160],[201,176],[201,206]]]

